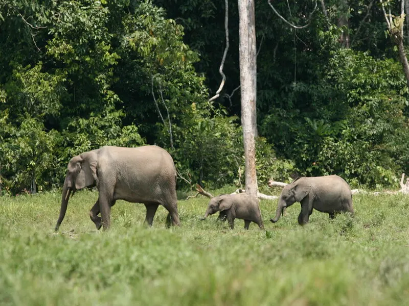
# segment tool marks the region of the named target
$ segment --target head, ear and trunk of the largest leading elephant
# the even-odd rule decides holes
[[[82,189],[97,182],[97,164],[98,155],[96,151],[89,151],[75,156],[68,163],[62,188],[60,216],[58,217],[55,231],[58,231],[64,219],[70,194],[74,195],[77,189]]]

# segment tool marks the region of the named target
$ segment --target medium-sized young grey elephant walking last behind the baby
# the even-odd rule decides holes
[[[308,223],[312,209],[328,213],[331,219],[335,218],[335,213],[338,212],[354,213],[351,189],[348,183],[337,175],[299,177],[285,186],[278,201],[276,216],[270,221],[276,223],[283,208],[293,205],[294,202],[301,202],[301,213],[298,216],[300,225]]]

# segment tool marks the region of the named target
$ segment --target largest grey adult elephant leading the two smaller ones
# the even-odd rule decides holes
[[[89,217],[99,230],[110,225],[111,206],[116,200],[144,203],[145,221],[152,225],[157,207],[168,211],[167,223],[179,225],[176,199],[176,170],[172,157],[161,147],[137,148],[103,146],[73,157],[62,189],[60,216],[55,231],[64,219],[68,199],[77,189],[96,184],[98,200]],[[101,213],[101,217],[98,214]]]

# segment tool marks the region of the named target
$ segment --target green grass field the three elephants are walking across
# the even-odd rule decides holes
[[[403,195],[356,195],[355,217],[315,211],[304,227],[298,203],[272,224],[277,201],[261,201],[266,232],[200,221],[204,197],[179,200],[181,227],[170,229],[164,208],[146,228],[143,205],[117,201],[111,230],[97,232],[88,217],[97,193],[80,191],[55,235],[60,197],[0,198],[1,305],[409,303]]]

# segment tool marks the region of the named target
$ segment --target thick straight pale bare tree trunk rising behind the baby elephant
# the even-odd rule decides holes
[[[241,122],[243,127],[246,193],[257,196],[256,174],[256,22],[254,0],[238,0]]]

